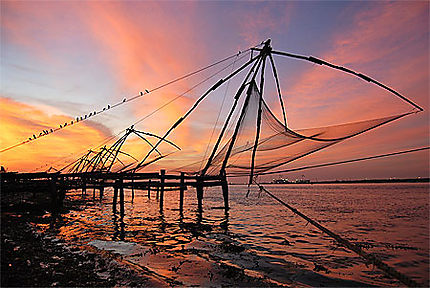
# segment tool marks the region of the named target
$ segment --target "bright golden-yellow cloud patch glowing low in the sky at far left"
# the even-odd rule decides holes
[[[58,123],[71,120],[64,115],[48,115],[36,107],[8,98],[0,98],[0,107],[2,147],[13,145],[17,140],[25,140],[33,137],[38,131],[49,130],[57,127]],[[39,167],[41,167],[39,170],[46,170],[49,167],[45,167],[45,163],[59,161],[70,154],[79,155],[88,148],[88,145],[102,142],[107,136],[106,133],[108,130],[100,124],[81,123],[73,129],[55,132],[53,135],[2,153],[1,163],[10,171],[31,171]]]

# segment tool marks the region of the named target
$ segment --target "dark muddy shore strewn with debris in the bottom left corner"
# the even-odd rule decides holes
[[[51,221],[44,215],[43,205],[31,202],[2,205],[2,287],[164,286],[115,259],[62,242],[55,231],[37,232],[34,223]]]

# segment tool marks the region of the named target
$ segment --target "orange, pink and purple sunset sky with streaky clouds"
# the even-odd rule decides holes
[[[312,55],[349,67],[424,108],[424,112],[281,168],[429,145],[428,1],[1,1],[0,5],[1,149],[268,38],[274,50]],[[163,135],[205,89],[249,59],[242,55],[88,121],[2,152],[0,163],[9,171],[61,168],[142,118],[137,129]],[[274,57],[288,125],[293,130],[380,118],[412,108],[345,73]],[[220,74],[181,96],[222,68]],[[235,78],[211,93],[169,136],[183,148],[181,153],[167,144],[160,146],[163,153],[174,153],[147,169],[162,165],[173,169],[207,155],[213,145],[208,143],[219,133],[239,83]],[[272,88],[265,89],[264,97],[280,117],[273,80],[267,80],[268,86],[270,83]],[[126,146],[138,157],[149,149],[145,145],[135,137]],[[278,176],[357,179],[428,175],[427,150]]]

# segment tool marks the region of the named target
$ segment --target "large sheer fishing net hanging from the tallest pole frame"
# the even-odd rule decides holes
[[[206,174],[219,174],[226,157],[228,175],[250,175],[252,154],[258,126],[258,110],[261,99],[261,129],[254,157],[254,175],[285,165],[291,161],[327,148],[345,139],[354,137],[406,114],[379,119],[347,123],[342,125],[292,131],[280,122],[262,99],[253,81],[248,87],[241,116],[236,121],[237,136],[234,134],[223,145],[209,163]],[[243,95],[242,95],[243,96]],[[231,149],[230,155],[228,151]]]

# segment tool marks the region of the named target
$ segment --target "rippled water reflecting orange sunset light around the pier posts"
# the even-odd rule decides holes
[[[265,187],[428,286],[429,184]],[[131,191],[125,190],[125,217],[121,221],[112,214],[111,190],[105,191],[101,202],[93,201],[92,191],[88,191],[84,197],[89,201],[83,209],[64,215],[58,236],[112,250],[186,285],[228,283],[228,279],[217,276],[216,263],[220,262],[282,284],[292,279],[306,285],[399,285],[264,192],[253,190],[248,198],[246,192],[246,186],[230,186],[231,209],[225,215],[219,209],[223,205],[220,188],[205,190],[204,212],[199,216],[195,190],[189,189],[181,217],[178,192],[165,193],[165,208],[160,213],[155,192],[148,199],[146,191],[136,191],[132,202]],[[69,197],[82,196],[75,192]]]

